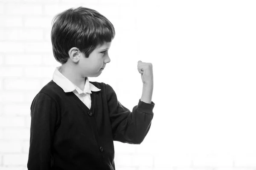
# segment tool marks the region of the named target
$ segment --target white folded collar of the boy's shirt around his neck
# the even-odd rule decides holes
[[[89,93],[89,94],[91,94],[92,91],[93,92],[98,92],[98,91],[101,90],[101,89],[98,89],[93,84],[91,84],[89,82],[88,77],[86,77],[85,85],[84,85],[84,91],[82,91],[81,89],[79,89],[79,87],[77,87],[69,79],[67,79],[64,75],[62,75],[60,70],[61,70],[61,66],[56,67],[56,69],[55,69],[55,71],[53,73],[53,76],[52,76],[52,80],[58,86],[60,86],[64,90],[64,92],[73,92],[74,90],[76,90],[79,94],[81,94],[81,93]]]

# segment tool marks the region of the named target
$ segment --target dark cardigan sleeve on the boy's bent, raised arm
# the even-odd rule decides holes
[[[154,102],[148,104],[139,100],[138,105],[131,112],[117,100],[116,93],[108,84],[107,98],[113,140],[140,144],[150,129]]]

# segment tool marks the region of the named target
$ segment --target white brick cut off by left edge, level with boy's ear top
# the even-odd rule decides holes
[[[25,52],[25,44],[21,42],[0,42],[0,52]]]

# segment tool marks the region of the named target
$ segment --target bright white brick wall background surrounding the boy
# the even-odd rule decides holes
[[[115,26],[97,78],[130,110],[154,71],[151,129],[115,144],[117,170],[256,170],[256,1],[0,0],[0,170],[26,170],[30,105],[52,79],[51,22],[72,7]]]

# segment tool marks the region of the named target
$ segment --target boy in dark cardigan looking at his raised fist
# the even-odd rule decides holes
[[[114,36],[112,23],[93,9],[55,16],[52,49],[61,66],[31,104],[28,170],[115,170],[113,141],[140,144],[147,135],[154,108],[151,63],[138,61],[143,92],[132,112],[110,85],[88,80],[110,62]]]

